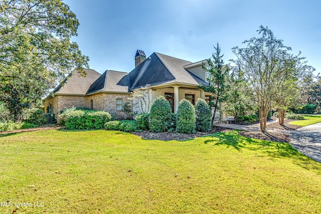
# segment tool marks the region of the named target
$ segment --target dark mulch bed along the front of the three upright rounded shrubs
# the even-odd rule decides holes
[[[224,127],[218,127],[214,126],[211,131],[209,132],[196,132],[194,134],[180,134],[176,132],[150,132],[150,131],[143,131],[143,132],[130,132],[131,134],[137,135],[143,139],[149,139],[149,140],[185,140],[185,139],[191,139],[195,137],[201,137],[217,132],[228,132],[233,129],[224,128]]]

